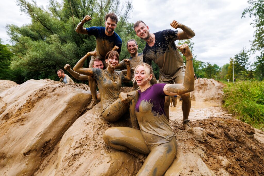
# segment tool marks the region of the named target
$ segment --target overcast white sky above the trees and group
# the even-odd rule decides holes
[[[48,0],[36,0],[37,5],[46,7]],[[60,1],[59,1],[60,2]],[[172,29],[169,25],[176,20],[195,32],[192,38],[194,54],[203,62],[222,66],[229,63],[243,47],[249,49],[253,40],[252,18],[241,18],[247,0],[133,0],[134,10],[129,21],[143,20],[150,32]],[[30,18],[16,5],[15,0],[1,1],[0,38],[10,44],[6,24],[22,26]],[[254,61],[251,56],[250,61]]]

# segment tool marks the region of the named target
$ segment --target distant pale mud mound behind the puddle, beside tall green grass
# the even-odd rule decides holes
[[[221,103],[225,84],[214,79],[199,78],[195,80],[191,100],[201,102]]]

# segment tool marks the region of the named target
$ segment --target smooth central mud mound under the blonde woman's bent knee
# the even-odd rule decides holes
[[[135,175],[141,163],[134,156],[106,146],[103,134],[109,127],[130,126],[129,120],[116,123],[101,116],[101,103],[79,117],[67,130],[56,152],[41,164],[34,175]]]

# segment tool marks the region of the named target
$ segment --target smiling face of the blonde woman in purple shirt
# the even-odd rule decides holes
[[[152,79],[152,74],[147,74],[143,65],[136,67],[135,81],[140,87],[149,84]]]

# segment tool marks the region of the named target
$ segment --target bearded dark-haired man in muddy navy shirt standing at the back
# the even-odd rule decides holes
[[[114,30],[117,24],[117,16],[114,13],[108,13],[105,17],[105,27],[93,26],[84,28],[83,24],[87,21],[92,20],[89,15],[86,15],[83,20],[77,25],[75,31],[80,34],[88,34],[89,36],[94,35],[96,38],[96,48],[97,56],[92,56],[89,68],[92,68],[93,60],[99,58],[102,60],[104,64],[104,68],[106,69],[107,63],[105,62],[105,57],[108,51],[117,50],[118,54],[121,52],[122,40],[117,35]],[[92,101],[95,101],[95,92],[96,92],[96,82],[92,77],[88,77],[89,79],[89,87],[92,94]]]

